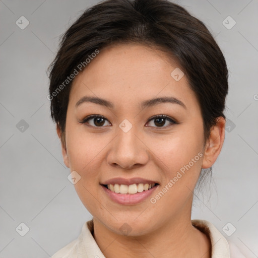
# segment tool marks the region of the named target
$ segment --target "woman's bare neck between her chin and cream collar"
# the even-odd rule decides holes
[[[124,236],[94,221],[94,238],[106,258],[211,257],[210,239],[191,225],[190,218],[178,216],[145,235]]]

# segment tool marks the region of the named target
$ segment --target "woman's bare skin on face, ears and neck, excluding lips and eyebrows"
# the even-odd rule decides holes
[[[225,119],[218,118],[205,144],[195,93],[186,76],[179,81],[170,76],[177,67],[166,53],[140,44],[101,49],[74,80],[65,135],[57,126],[64,163],[81,176],[75,188],[93,216],[94,238],[107,258],[211,256],[210,239],[191,225],[191,206],[201,168],[211,167],[221,151]],[[90,102],[76,108],[77,101],[85,95],[111,101],[114,108]],[[186,108],[173,103],[144,109],[138,106],[161,96],[175,97]],[[78,122],[92,114],[108,120],[102,127],[94,119],[88,125]],[[157,120],[148,121],[159,114],[179,123],[165,120],[159,127]],[[124,119],[133,125],[127,133],[119,127]],[[150,198],[200,152],[203,156],[152,204]],[[142,203],[120,205],[110,200],[100,186],[100,182],[114,177],[143,177],[160,185]],[[130,226],[128,235],[119,230],[124,223]]]

